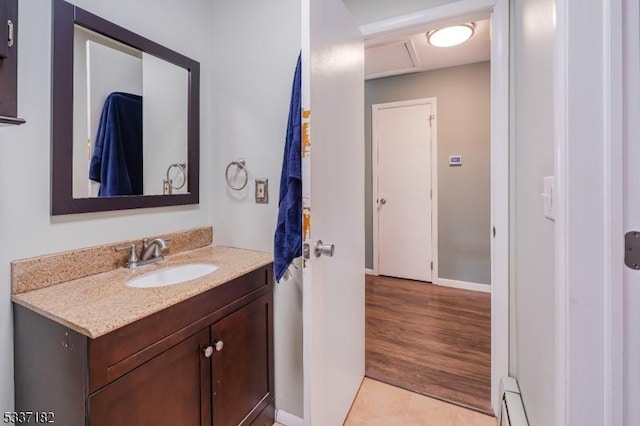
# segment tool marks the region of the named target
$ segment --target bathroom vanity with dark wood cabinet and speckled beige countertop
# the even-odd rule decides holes
[[[16,411],[68,426],[271,426],[270,255],[211,246],[168,262],[193,259],[219,269],[138,289],[123,277],[140,271],[121,268],[14,295]]]

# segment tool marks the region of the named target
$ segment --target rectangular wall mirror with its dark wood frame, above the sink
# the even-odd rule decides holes
[[[197,204],[199,64],[53,2],[53,215]]]

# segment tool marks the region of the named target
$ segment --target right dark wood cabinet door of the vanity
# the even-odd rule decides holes
[[[248,425],[273,400],[272,297],[269,293],[211,326],[215,426]]]

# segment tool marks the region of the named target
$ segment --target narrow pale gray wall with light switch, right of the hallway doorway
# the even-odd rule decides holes
[[[554,173],[553,0],[512,2],[510,374],[532,425],[554,424],[554,230],[542,178]]]

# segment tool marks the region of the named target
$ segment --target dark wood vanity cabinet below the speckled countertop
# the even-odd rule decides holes
[[[15,306],[16,411],[68,426],[271,426],[272,276],[259,268],[97,339]]]

